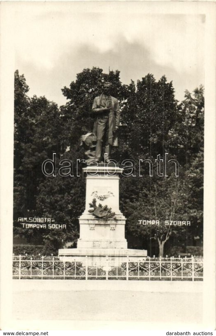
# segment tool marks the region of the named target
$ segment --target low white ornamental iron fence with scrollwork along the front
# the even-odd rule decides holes
[[[203,280],[203,259],[144,258],[132,261],[127,257],[121,265],[113,266],[108,257],[104,266],[84,262],[62,261],[59,257],[14,256],[13,279],[79,279],[79,280]]]

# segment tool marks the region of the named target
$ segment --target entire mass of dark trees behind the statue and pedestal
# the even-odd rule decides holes
[[[119,147],[112,157],[121,164],[133,160],[136,176],[120,180],[120,209],[126,216],[128,247],[148,249],[149,255],[163,255],[164,249],[178,245],[201,244],[203,233],[203,152],[204,89],[185,99],[174,97],[172,82],[165,76],[156,81],[148,74],[137,82],[124,85],[120,72],[84,69],[70,87],[62,89],[68,102],[58,108],[45,97],[29,98],[23,75],[15,72],[14,85],[14,237],[28,243],[40,240],[48,252],[70,242],[76,246],[78,216],[85,206],[84,158],[80,136],[92,131],[92,103],[104,81],[113,83],[112,95],[119,100],[121,126]],[[56,153],[56,176],[47,177],[42,163]],[[179,176],[175,165],[179,163]],[[158,155],[160,157],[158,158]],[[160,162],[156,159],[163,159]],[[71,176],[58,174],[60,161],[73,162]],[[151,160],[153,176],[149,174]],[[159,169],[159,170],[158,170]],[[76,177],[78,172],[78,177]],[[159,174],[158,174],[159,172]],[[166,175],[165,176],[165,172]],[[160,176],[158,176],[160,175]],[[65,228],[25,228],[18,217],[50,217]],[[140,220],[158,220],[160,225],[142,225]],[[190,226],[164,225],[165,220],[190,221]],[[181,247],[181,248],[180,248]],[[184,249],[184,248],[183,248]]]

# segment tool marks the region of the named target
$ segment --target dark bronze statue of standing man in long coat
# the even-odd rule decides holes
[[[103,93],[95,97],[92,112],[95,114],[93,133],[97,137],[95,159],[100,162],[102,148],[104,147],[105,163],[110,160],[112,146],[118,146],[117,130],[120,123],[120,110],[118,99],[110,95],[111,83],[105,82]]]

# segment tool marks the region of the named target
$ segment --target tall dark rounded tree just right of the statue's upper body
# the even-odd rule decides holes
[[[123,122],[127,118],[129,146],[139,156],[145,154],[150,158],[164,154],[168,132],[176,121],[177,101],[172,82],[167,83],[165,76],[156,82],[154,76],[148,74],[142,81],[138,80],[136,92],[134,86],[132,88],[128,108],[122,113]]]

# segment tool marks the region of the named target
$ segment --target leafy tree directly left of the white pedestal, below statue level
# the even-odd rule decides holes
[[[78,217],[85,209],[85,180],[79,177],[47,177],[40,184],[36,210],[65,229],[43,229],[42,237],[55,253],[67,242],[76,246],[79,237]],[[53,252],[52,251],[52,252]]]

